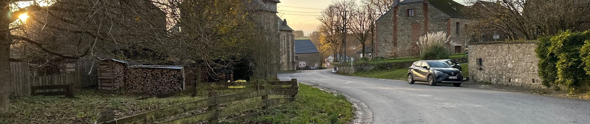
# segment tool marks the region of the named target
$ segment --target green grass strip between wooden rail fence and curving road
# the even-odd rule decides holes
[[[346,123],[352,118],[352,104],[343,95],[301,85],[293,103],[271,109],[263,115],[229,123]]]

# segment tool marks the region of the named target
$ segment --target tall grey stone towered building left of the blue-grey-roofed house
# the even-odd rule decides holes
[[[261,28],[265,31],[268,31],[268,35],[272,35],[270,36],[271,38],[267,39],[277,43],[279,53],[275,53],[275,55],[278,55],[278,58],[280,58],[278,69],[282,71],[294,71],[296,69],[294,30],[287,25],[287,19],[281,19],[277,15],[277,4],[280,1],[254,0],[245,2],[250,7],[249,13],[253,16],[254,22],[258,26],[262,26]]]

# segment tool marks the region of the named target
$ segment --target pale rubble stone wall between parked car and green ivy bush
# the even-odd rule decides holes
[[[537,41],[474,42],[469,48],[469,75],[474,82],[546,88],[538,76]],[[481,65],[477,59],[481,58]]]

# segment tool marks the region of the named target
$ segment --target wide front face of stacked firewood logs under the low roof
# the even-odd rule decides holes
[[[125,92],[159,95],[182,91],[182,69],[127,68]]]

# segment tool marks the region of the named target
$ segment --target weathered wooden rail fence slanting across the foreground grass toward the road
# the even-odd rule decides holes
[[[295,81],[295,83],[293,83]],[[198,123],[203,121],[208,121],[211,124],[215,124],[218,122],[218,118],[222,118],[224,116],[232,115],[235,113],[244,112],[247,110],[254,110],[261,108],[261,110],[253,113],[248,113],[247,115],[238,116],[236,118],[232,118],[230,120],[235,119],[243,119],[243,118],[250,118],[256,116],[268,109],[270,109],[273,105],[280,105],[283,103],[293,102],[296,98],[297,93],[299,92],[299,85],[296,83],[296,79],[293,81],[283,81],[283,82],[261,82],[262,86],[259,87],[258,90],[255,91],[248,91],[248,92],[241,92],[241,93],[233,93],[228,95],[217,95],[213,89],[208,89],[209,98],[195,100],[188,103],[183,103],[181,105],[170,106],[168,108],[152,110],[150,112],[140,113],[138,115],[128,116],[125,118],[114,119],[114,113],[111,115],[103,115],[103,113],[109,112],[101,112],[99,115],[99,119],[97,119],[97,123],[113,123],[113,124],[120,124],[120,123],[152,123],[153,120],[162,119],[162,118],[169,118],[170,116],[178,115],[181,113],[189,112],[192,110],[199,110],[201,108],[207,107],[208,109],[205,112],[197,113],[194,115],[184,116],[182,118],[169,120],[162,123]],[[227,83],[227,82],[226,82]],[[271,88],[270,86],[273,84],[287,84],[289,83],[291,86],[290,90],[285,89],[268,89]],[[212,86],[224,86],[225,84],[222,83],[209,83]],[[234,83],[230,83],[234,84]],[[242,85],[242,84],[240,84]],[[269,87],[267,87],[269,86]],[[227,91],[227,89],[222,88],[219,91]],[[268,95],[281,95],[287,96],[286,98],[268,98]],[[259,98],[261,100],[257,100],[254,102],[249,103],[242,103],[240,105],[229,106],[226,108],[219,108],[219,104],[223,103],[230,103],[245,99],[251,98]]]

